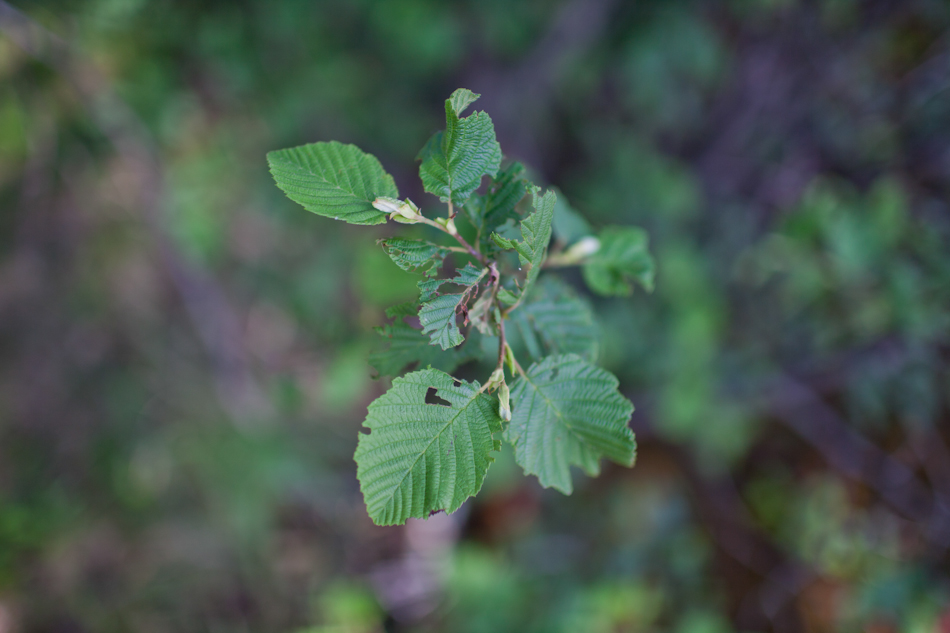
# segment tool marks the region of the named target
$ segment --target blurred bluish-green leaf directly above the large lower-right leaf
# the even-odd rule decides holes
[[[590,305],[553,275],[538,280],[524,304],[509,317],[509,342],[522,343],[534,360],[549,354],[577,354],[594,362],[600,332]],[[515,347],[517,351],[517,347]]]

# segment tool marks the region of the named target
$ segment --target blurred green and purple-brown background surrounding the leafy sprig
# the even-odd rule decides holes
[[[948,29],[944,0],[0,2],[0,633],[950,631]],[[352,142],[431,207],[458,87],[651,234],[657,290],[592,298],[640,457],[564,497],[505,452],[377,528],[366,361],[415,279],[264,154]]]

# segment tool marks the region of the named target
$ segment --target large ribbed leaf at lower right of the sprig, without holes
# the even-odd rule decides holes
[[[549,356],[518,378],[511,400],[505,439],[525,473],[545,488],[571,494],[570,467],[594,476],[601,457],[633,465],[636,442],[627,426],[633,405],[610,372],[574,354]]]

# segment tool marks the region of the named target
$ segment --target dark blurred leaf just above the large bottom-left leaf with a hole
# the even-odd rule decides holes
[[[420,369],[433,367],[451,372],[474,358],[469,345],[446,351],[433,347],[422,330],[410,326],[404,320],[405,317],[416,316],[418,310],[413,302],[386,310],[386,316],[395,320],[391,324],[376,328],[376,332],[388,345],[369,355],[370,365],[380,376],[398,376],[410,365]]]

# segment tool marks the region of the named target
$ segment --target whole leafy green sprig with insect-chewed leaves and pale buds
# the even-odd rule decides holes
[[[592,364],[599,350],[592,309],[542,271],[580,266],[588,287],[605,296],[630,294],[633,283],[652,291],[646,233],[594,234],[563,196],[531,184],[522,165],[502,168],[491,118],[462,116],[478,97],[452,93],[445,130],[419,152],[423,188],[448,204],[444,217],[400,200],[380,162],[353,145],[312,143],[267,156],[278,187],[313,213],[351,224],[423,224],[458,244],[379,241],[396,265],[421,275],[418,300],[387,310],[392,321],[377,328],[386,346],[370,356],[381,376],[395,377],[369,405],[355,455],[379,525],[458,509],[481,488],[501,439],[525,473],[565,494],[572,466],[596,475],[603,458],[632,466],[636,457],[627,426],[633,405],[616,377]],[[446,262],[456,270],[443,278]],[[484,344],[466,342],[473,332],[497,343],[497,354],[485,358]],[[518,354],[533,361],[527,370]],[[470,360],[493,366],[483,385],[446,373]]]

